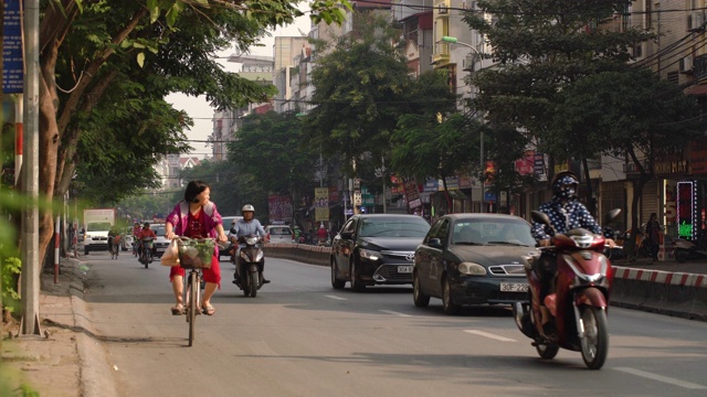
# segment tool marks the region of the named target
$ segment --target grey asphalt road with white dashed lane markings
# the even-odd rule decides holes
[[[223,258],[225,260],[225,257]],[[365,293],[330,287],[329,269],[266,259],[273,280],[256,298],[223,265],[217,313],[187,346],[173,316],[168,269],[128,253],[83,257],[87,316],[119,396],[703,396],[707,323],[612,308],[602,371],[578,352],[541,362],[505,308],[442,312],[412,304],[411,288]]]

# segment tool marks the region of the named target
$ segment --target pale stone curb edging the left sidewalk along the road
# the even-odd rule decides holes
[[[85,279],[76,273],[76,269],[83,265],[78,259],[64,259],[73,267],[68,291],[71,293],[72,313],[74,315],[74,326],[76,330],[76,350],[81,361],[81,385],[82,396],[93,397],[117,397],[115,377],[108,367],[106,352],[96,336],[95,329],[91,322],[91,316],[86,310],[84,301]]]

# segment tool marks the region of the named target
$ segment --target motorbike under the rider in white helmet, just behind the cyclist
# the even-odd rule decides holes
[[[263,267],[265,258],[262,238],[255,235],[239,237],[241,249],[236,259],[235,271],[239,276],[236,286],[246,297],[255,298],[257,290],[263,287]]]

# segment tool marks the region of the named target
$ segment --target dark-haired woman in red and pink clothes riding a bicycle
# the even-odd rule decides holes
[[[225,243],[228,239],[223,232],[223,221],[217,211],[215,204],[209,201],[211,189],[202,181],[191,181],[184,191],[184,200],[175,206],[175,210],[167,216],[165,223],[165,237],[173,239],[176,236],[191,238],[210,237],[218,242]],[[184,305],[182,302],[182,278],[184,269],[172,266],[169,279],[172,282],[172,291],[177,304],[172,308],[172,314],[182,314]],[[221,268],[219,267],[219,247],[217,246],[211,258],[211,267],[203,269],[203,280],[205,288],[201,308],[208,315],[212,315],[215,310],[211,305],[211,297],[217,288],[221,286]]]

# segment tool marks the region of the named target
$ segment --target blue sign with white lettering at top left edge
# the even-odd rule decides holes
[[[2,93],[21,94],[24,83],[22,62],[22,14],[20,0],[4,0],[2,30]]]

